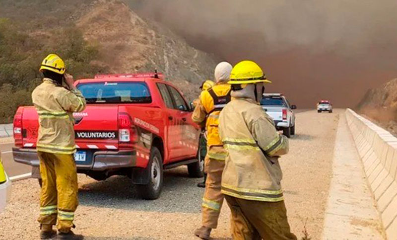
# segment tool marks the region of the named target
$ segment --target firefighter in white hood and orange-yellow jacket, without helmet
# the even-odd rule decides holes
[[[202,226],[195,231],[201,239],[209,239],[211,230],[218,225],[223,194],[220,192],[222,171],[226,152],[218,134],[218,117],[222,108],[231,100],[230,78],[232,66],[227,62],[219,63],[215,68],[216,84],[201,92],[200,101],[192,115],[192,120],[204,125],[207,133],[207,154],[204,171],[207,173],[205,192],[202,197]]]

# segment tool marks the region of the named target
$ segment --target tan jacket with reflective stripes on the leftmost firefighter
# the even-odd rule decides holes
[[[77,89],[67,90],[51,79],[44,79],[32,92],[33,104],[39,115],[37,151],[73,154],[73,112],[85,109],[85,99]]]

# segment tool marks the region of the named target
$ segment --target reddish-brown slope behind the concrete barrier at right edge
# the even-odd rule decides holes
[[[397,135],[397,79],[368,90],[357,110]]]

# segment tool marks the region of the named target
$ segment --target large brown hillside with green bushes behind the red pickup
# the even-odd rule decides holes
[[[189,100],[217,61],[119,0],[1,0],[0,16],[0,123],[30,104],[50,52],[64,58],[75,79],[157,69]]]

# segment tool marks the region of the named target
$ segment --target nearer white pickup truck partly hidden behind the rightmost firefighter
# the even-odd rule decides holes
[[[296,109],[296,106],[291,105],[284,95],[265,93],[261,100],[261,106],[273,119],[277,130],[282,130],[288,138],[295,135],[295,114],[292,109]]]

